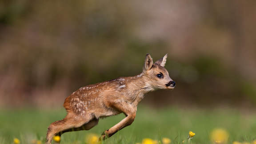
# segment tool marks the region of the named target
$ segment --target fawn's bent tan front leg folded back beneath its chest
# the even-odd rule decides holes
[[[123,112],[125,114],[125,118],[121,120],[118,124],[114,125],[112,128],[109,128],[105,132],[102,133],[102,136],[100,137],[100,140],[105,140],[108,137],[111,137],[116,132],[121,130],[122,128],[131,125],[132,122],[135,119],[136,116],[136,107],[132,107],[130,104],[127,103],[111,103],[110,104],[112,108],[117,109],[120,112]]]

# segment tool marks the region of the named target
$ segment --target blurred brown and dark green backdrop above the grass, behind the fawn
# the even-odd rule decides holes
[[[255,108],[255,0],[0,0],[0,107],[62,108],[76,89],[168,53],[150,107]]]

